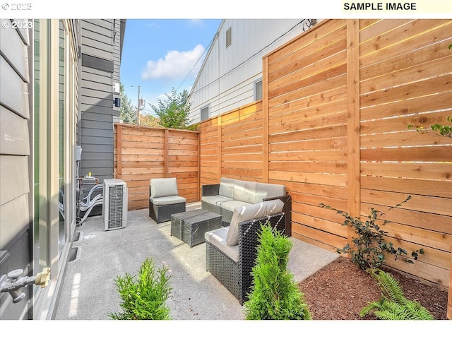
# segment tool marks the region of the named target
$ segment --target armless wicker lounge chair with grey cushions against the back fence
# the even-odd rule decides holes
[[[186,199],[178,194],[176,178],[150,179],[150,218],[158,224],[171,220],[174,213],[185,212]]]

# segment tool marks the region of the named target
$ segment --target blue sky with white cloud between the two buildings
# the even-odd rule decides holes
[[[120,77],[132,107],[154,114],[172,88],[190,92],[221,19],[127,19]],[[141,110],[143,112],[143,110]]]

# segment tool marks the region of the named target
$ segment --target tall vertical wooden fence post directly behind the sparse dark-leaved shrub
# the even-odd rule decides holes
[[[359,20],[347,20],[347,208],[359,216],[361,198],[359,171]],[[352,244],[352,227],[347,241]]]

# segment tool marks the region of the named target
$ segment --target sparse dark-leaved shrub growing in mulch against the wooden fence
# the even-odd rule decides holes
[[[405,201],[398,203],[396,206],[391,208],[401,206],[410,199],[411,196],[408,196]],[[399,256],[402,256],[402,254],[407,255],[407,251],[405,249],[402,249],[401,247],[396,249],[392,242],[384,241],[383,237],[388,234],[388,232],[381,230],[381,226],[388,224],[388,220],[385,220],[381,225],[378,225],[379,217],[384,214],[379,210],[371,208],[370,215],[368,215],[367,220],[363,222],[360,218],[354,218],[343,210],[332,208],[324,203],[321,203],[320,206],[330,210],[335,210],[336,213],[345,218],[342,225],[355,228],[355,233],[358,237],[352,237],[353,246],[347,244],[343,247],[343,249],[337,249],[336,251],[340,254],[350,254],[352,262],[356,263],[362,270],[366,270],[367,268],[379,268],[386,260],[386,254],[392,254],[395,256],[395,260],[397,260]],[[423,253],[423,249],[418,249],[416,251],[412,251],[411,256],[417,260],[418,254]],[[414,263],[408,258],[402,258],[403,261]]]

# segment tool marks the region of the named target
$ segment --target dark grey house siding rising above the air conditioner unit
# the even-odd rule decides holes
[[[100,182],[113,178],[113,123],[119,119],[114,83],[119,83],[121,22],[81,20],[80,175],[91,173]]]

